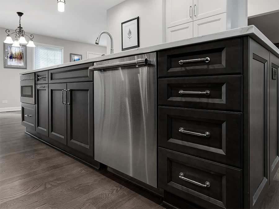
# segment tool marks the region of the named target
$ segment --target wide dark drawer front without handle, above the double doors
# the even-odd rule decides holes
[[[88,67],[93,63],[62,67],[59,69],[49,70],[49,83],[66,83],[78,81],[93,81],[93,72]]]

